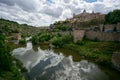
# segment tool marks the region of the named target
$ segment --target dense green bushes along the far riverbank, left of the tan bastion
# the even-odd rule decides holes
[[[52,33],[48,31],[42,31],[39,34],[35,35],[31,39],[33,44],[39,43],[51,43],[55,47],[63,47],[65,44],[72,42],[72,35],[63,35],[59,33]]]

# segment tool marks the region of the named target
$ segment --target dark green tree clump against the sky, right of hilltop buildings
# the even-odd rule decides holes
[[[109,12],[105,16],[106,23],[116,24],[120,22],[120,10],[114,10],[113,12]]]

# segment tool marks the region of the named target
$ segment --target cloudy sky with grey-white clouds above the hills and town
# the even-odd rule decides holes
[[[120,0],[0,0],[0,18],[32,26],[49,26],[83,10],[107,14]]]

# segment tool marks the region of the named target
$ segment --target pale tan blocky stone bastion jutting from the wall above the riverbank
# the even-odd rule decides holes
[[[82,40],[85,35],[85,30],[73,30],[73,39],[74,42]]]

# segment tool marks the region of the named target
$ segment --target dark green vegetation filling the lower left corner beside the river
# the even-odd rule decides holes
[[[0,34],[0,80],[24,80],[13,62],[11,49],[5,44],[5,36]]]

